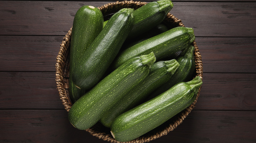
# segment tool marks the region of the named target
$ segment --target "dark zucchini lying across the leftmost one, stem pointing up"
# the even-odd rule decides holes
[[[82,67],[72,77],[77,87],[90,89],[102,78],[133,26],[133,11],[123,8],[116,12],[87,48]]]

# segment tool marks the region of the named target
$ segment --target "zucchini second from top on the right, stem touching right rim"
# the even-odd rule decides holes
[[[120,52],[112,63],[112,68],[116,69],[134,56],[145,55],[150,52],[154,52],[157,60],[161,60],[185,49],[194,40],[195,35],[192,28],[172,28]]]

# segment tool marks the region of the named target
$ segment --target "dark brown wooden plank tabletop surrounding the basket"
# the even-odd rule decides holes
[[[77,9],[110,2],[0,1],[1,143],[107,142],[69,123],[55,61]],[[203,86],[181,125],[151,142],[256,142],[256,1],[173,4],[170,13],[195,31]]]

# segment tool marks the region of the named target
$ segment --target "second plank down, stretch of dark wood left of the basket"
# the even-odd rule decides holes
[[[0,36],[1,71],[55,71],[63,37]]]

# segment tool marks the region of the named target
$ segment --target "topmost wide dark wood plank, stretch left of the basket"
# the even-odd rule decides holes
[[[76,11],[83,5],[102,6],[104,1],[0,1],[3,35],[65,35]]]

